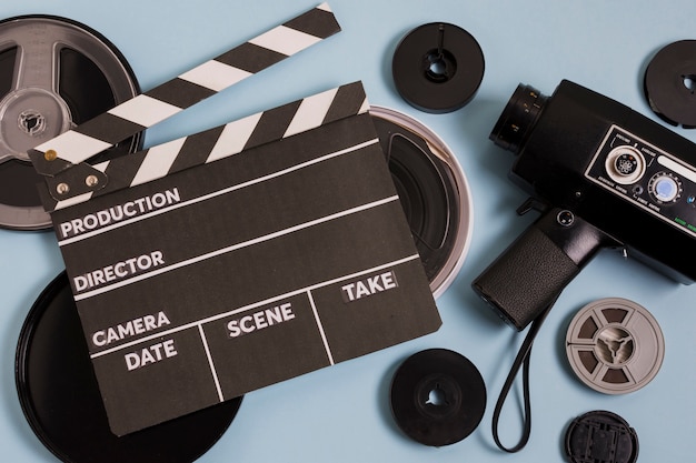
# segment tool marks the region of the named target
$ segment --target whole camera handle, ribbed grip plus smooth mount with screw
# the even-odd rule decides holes
[[[616,244],[571,211],[551,208],[471,286],[504,320],[521,331],[558,298],[600,248]]]

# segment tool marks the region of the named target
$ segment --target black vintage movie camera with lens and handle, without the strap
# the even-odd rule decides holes
[[[696,280],[696,144],[567,80],[551,97],[520,84],[490,139],[517,155],[509,178],[543,210],[473,282],[515,328],[601,248]]]

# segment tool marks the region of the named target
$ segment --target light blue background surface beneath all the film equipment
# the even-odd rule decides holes
[[[318,3],[318,2],[317,2]],[[148,90],[317,4],[281,0],[24,0],[2,2],[0,18],[57,14],[110,39]],[[511,153],[488,133],[519,82],[550,94],[569,79],[658,119],[644,98],[643,73],[662,47],[696,39],[693,0],[385,1],[332,0],[344,31],[327,42],[235,85],[150,131],[146,145],[362,80],[372,104],[422,121],[450,147],[474,200],[470,250],[456,281],[438,299],[444,320],[435,334],[249,393],[229,431],[201,462],[553,462],[575,416],[609,410],[638,433],[640,462],[693,461],[696,433],[696,285],[684,286],[646,266],[603,251],[561,294],[531,359],[533,434],[518,454],[495,447],[491,412],[521,336],[504,325],[470,290],[470,282],[535,218],[518,218],[525,194],[506,178]],[[486,57],[476,98],[459,111],[427,114],[397,94],[390,60],[399,40],[431,21],[468,30]],[[663,123],[663,122],[658,122]],[[696,141],[696,130],[674,129]],[[639,228],[639,223],[633,224]],[[660,236],[654,236],[656,241]],[[694,261],[694,249],[684,259]],[[0,230],[0,449],[2,461],[50,462],[24,420],[14,386],[21,324],[40,291],[62,269],[51,232]],[[564,340],[573,315],[600,298],[626,298],[647,308],[666,341],[662,370],[626,395],[590,390],[571,372]],[[389,411],[389,383],[410,354],[451,349],[470,359],[487,387],[486,415],[466,440],[441,449],[407,439]],[[508,445],[520,432],[519,401],[504,410]]]

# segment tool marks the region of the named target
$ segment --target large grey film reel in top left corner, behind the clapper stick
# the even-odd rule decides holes
[[[43,211],[27,151],[139,93],[107,39],[74,21],[24,16],[0,22],[0,228],[41,230]],[[95,161],[136,151],[140,134]]]

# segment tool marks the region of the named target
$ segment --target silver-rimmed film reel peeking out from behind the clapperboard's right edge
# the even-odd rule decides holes
[[[457,158],[422,123],[380,107],[370,115],[437,298],[457,276],[471,241],[468,182]]]

